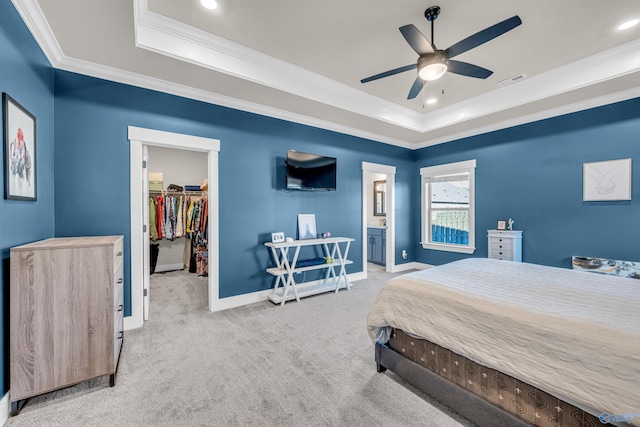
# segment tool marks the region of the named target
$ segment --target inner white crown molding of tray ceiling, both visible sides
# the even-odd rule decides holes
[[[567,93],[640,68],[640,40],[636,40],[422,114],[151,12],[147,0],[134,3],[139,11],[135,20],[139,47],[420,133]]]

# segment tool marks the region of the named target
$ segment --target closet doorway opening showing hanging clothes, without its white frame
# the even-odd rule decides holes
[[[180,304],[189,310],[206,310],[207,153],[153,145],[144,148],[149,178],[150,263],[144,264],[148,299],[153,297],[154,306]],[[150,307],[151,301],[144,306],[144,320],[149,319]]]

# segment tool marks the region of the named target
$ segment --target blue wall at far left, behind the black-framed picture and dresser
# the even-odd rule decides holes
[[[37,201],[0,200],[0,393],[4,395],[9,389],[10,248],[54,235],[53,71],[20,15],[4,0],[0,1],[0,55],[0,92],[36,117],[37,173]]]

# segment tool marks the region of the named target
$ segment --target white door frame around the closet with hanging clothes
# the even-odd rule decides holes
[[[202,151],[208,154],[209,195],[207,207],[209,251],[209,310],[219,307],[219,204],[218,204],[218,153],[220,140],[199,136],[183,135],[171,132],[144,129],[129,126],[130,141],[130,202],[131,202],[131,316],[125,317],[124,329],[140,328],[144,324],[144,245],[148,242],[143,232],[143,206],[147,202],[144,194],[142,170],[143,146],[153,145],[166,148],[177,148],[191,151]],[[148,202],[147,202],[148,203]],[[213,236],[213,238],[211,238]]]

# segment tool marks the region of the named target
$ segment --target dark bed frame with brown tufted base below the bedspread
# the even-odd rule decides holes
[[[420,353],[418,347],[427,351]],[[393,330],[388,344],[376,343],[375,361],[378,372],[389,369],[478,426],[602,425],[592,414],[548,393],[401,330]]]

